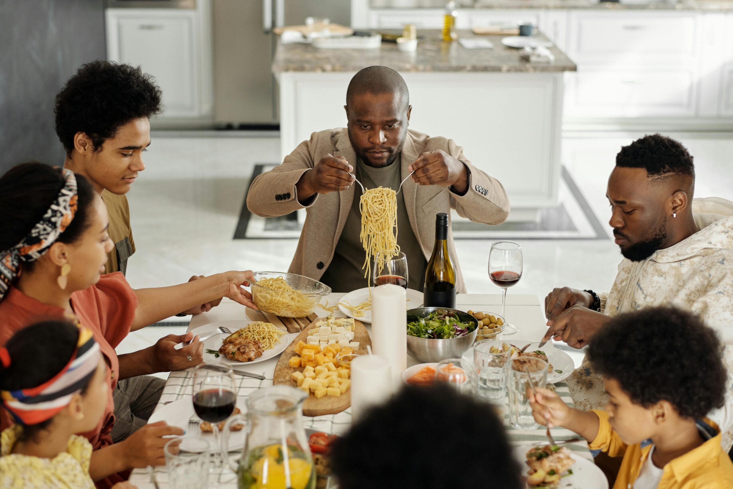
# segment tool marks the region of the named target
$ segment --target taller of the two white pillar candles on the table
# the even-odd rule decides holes
[[[408,364],[407,296],[404,288],[387,283],[372,290],[372,348],[391,367],[392,389],[402,387]]]

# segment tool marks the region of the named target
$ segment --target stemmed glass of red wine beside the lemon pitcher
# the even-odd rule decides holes
[[[202,363],[194,370],[194,411],[210,422],[214,432],[213,467],[221,467],[218,423],[232,416],[237,404],[237,389],[231,367]]]

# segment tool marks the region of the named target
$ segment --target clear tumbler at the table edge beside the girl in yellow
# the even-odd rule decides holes
[[[172,489],[209,487],[211,446],[202,438],[172,438],[163,447],[166,471]]]

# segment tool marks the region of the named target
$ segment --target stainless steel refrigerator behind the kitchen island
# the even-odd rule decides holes
[[[213,0],[214,114],[217,127],[261,129],[278,120],[271,62],[277,26],[325,17],[348,26],[349,0]]]

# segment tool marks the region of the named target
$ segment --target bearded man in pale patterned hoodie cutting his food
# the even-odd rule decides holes
[[[621,149],[608,179],[609,225],[623,260],[608,294],[555,288],[545,298],[548,332],[573,348],[592,344],[619,313],[675,305],[701,316],[718,332],[723,361],[733,371],[733,202],[696,198],[695,165],[685,146],[647,135]],[[618,352],[616,352],[618,353]],[[575,405],[600,408],[608,401],[592,365],[567,382]],[[733,396],[710,417],[733,444]]]

